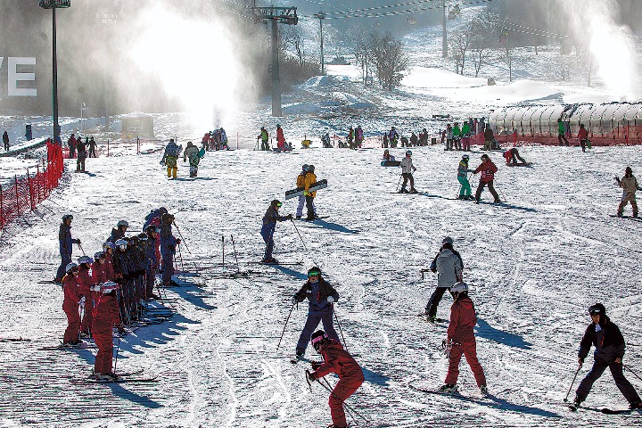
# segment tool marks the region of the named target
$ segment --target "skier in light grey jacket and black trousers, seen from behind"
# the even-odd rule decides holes
[[[433,323],[437,317],[437,307],[444,292],[449,290],[453,284],[462,280],[464,262],[459,252],[453,248],[453,239],[451,237],[446,236],[441,241],[440,251],[432,259],[430,269],[437,274],[437,288],[432,292],[430,300],[426,303],[425,312],[421,315],[426,316],[428,321]]]

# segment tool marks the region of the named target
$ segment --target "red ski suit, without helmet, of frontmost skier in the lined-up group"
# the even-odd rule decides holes
[[[95,373],[111,373],[111,354],[113,353],[111,329],[114,325],[122,328],[118,300],[116,296],[101,294],[94,307],[94,325],[92,325],[94,342],[98,347],[94,365]]]

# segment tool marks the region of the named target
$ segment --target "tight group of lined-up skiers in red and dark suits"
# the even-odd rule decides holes
[[[93,259],[83,255],[73,262],[71,246],[80,246],[80,240],[71,237],[72,220],[70,214],[63,216],[59,230],[62,263],[56,282],[62,284],[62,309],[68,320],[62,346],[77,346],[81,338],[93,338],[98,348],[95,378],[110,380],[114,378],[112,327],[126,334],[124,325],[143,316],[143,302],[158,299],[153,287],[161,259],[161,283],[172,285],[180,239],[172,235],[174,216],[161,207],[145,218],[143,233],[126,237],[128,221],[119,220],[103,243],[103,251],[96,252]]]

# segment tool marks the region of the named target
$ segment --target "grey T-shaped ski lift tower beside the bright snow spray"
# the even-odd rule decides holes
[[[283,116],[281,112],[281,78],[278,65],[278,31],[277,23],[296,25],[299,17],[296,7],[256,7],[256,0],[252,7],[255,21],[272,22],[272,116]]]

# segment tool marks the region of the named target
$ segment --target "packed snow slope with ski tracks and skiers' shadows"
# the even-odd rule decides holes
[[[4,229],[0,337],[31,342],[0,342],[0,425],[330,424],[328,393],[318,383],[310,391],[307,365],[290,363],[306,304],[292,311],[276,351],[292,293],[315,264],[341,296],[336,314],[345,345],[366,375],[348,403],[371,426],[638,424],[638,415],[570,413],[562,399],[577,368],[586,309],[596,301],[605,304],[627,340],[624,363],[638,373],[642,366],[639,223],[610,217],[620,196],[613,176],[627,165],[640,170],[639,147],[587,153],[523,148],[531,168],[512,169],[493,152],[505,205],[488,203],[488,192],[486,203],[457,201],[461,153],[442,146],[413,149],[416,187],[424,192],[416,195],[395,193],[399,169],[380,167],[377,149],[208,152],[196,180],[186,177],[180,162],[179,178],[169,181],[159,165],[161,152],[152,149],[87,160],[89,174],[67,173],[49,200]],[[400,158],[403,150],[392,154]],[[472,168],[480,154],[472,153]],[[317,193],[317,209],[329,217],[278,224],[276,259],[301,265],[247,264],[262,257],[259,228],[269,201],[284,201],[303,163],[314,164],[317,177],[328,180],[327,189]],[[69,169],[74,166],[70,160]],[[282,213],[293,213],[295,204],[284,201]],[[128,219],[129,231],[138,233],[144,216],[160,206],[176,214],[185,238],[177,264],[188,274],[177,276],[181,286],[167,290],[162,303],[176,315],[121,339],[117,368],[142,368],[159,382],[73,383],[90,374],[95,350],[38,350],[57,344],[66,326],[62,291],[39,283],[57,268],[62,214],[74,215],[72,235],[93,254],[119,219]],[[446,235],[454,238],[472,286],[477,350],[490,398],[481,398],[465,362],[459,378],[465,399],[410,387],[435,389],[447,371],[440,350],[445,328],[416,316],[436,284],[432,274],[422,280],[419,271]],[[74,251],[82,254],[78,246]],[[222,278],[236,271],[236,259],[249,276]],[[446,296],[438,317],[449,317],[449,303]],[[311,348],[307,356],[318,358]],[[590,358],[579,377],[589,363]],[[642,390],[642,382],[626,374]],[[608,373],[586,404],[628,405]],[[357,419],[354,426],[366,423]]]

